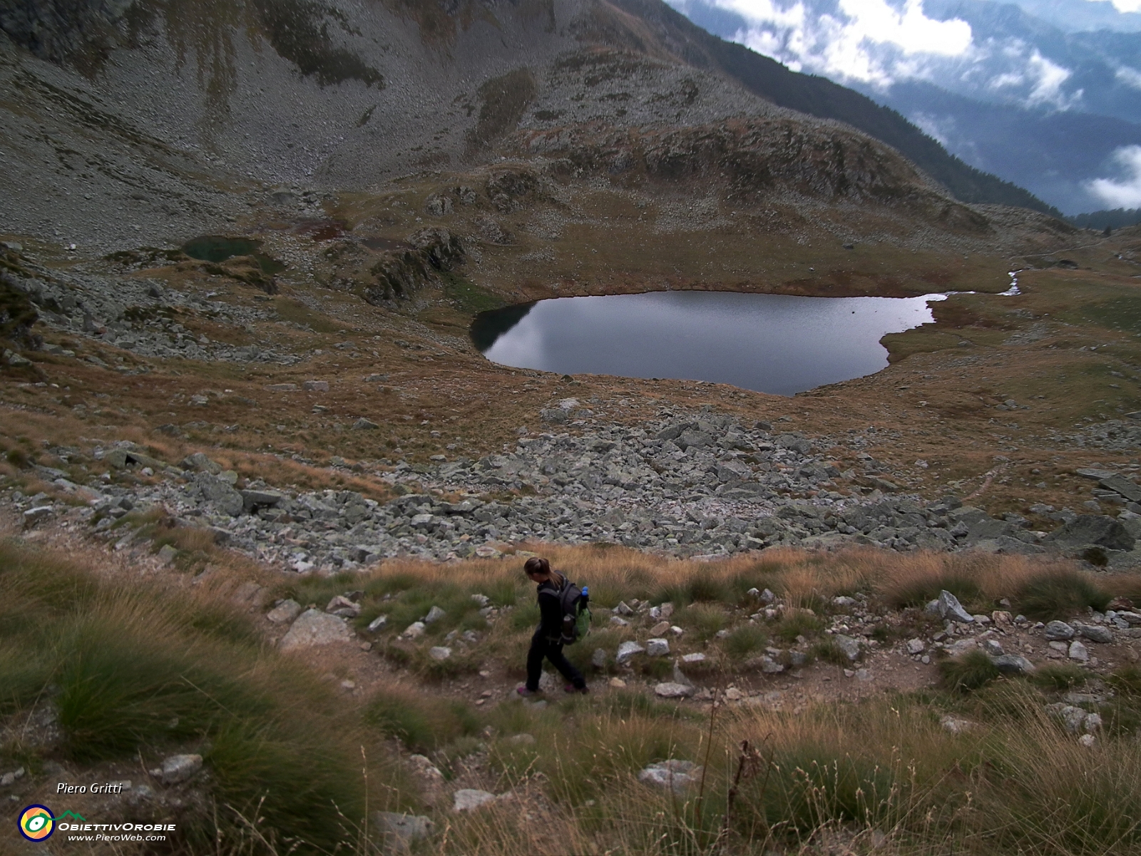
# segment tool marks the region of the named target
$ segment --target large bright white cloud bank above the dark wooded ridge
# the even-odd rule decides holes
[[[1133,1],[1133,0],[1130,0]],[[1135,0],[1141,5],[1141,0]],[[1014,38],[988,39],[960,18],[928,17],[922,0],[671,0],[744,18],[735,41],[793,71],[887,89],[922,80],[1025,107],[1069,110],[1073,74]]]

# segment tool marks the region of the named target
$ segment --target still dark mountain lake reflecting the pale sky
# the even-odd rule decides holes
[[[791,297],[725,291],[566,297],[482,313],[488,360],[560,374],[733,383],[793,395],[887,368],[885,333],[932,321],[913,298]]]

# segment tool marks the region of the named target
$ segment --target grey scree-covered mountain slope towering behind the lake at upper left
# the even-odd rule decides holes
[[[272,217],[262,194],[281,183],[354,193],[462,170],[496,161],[517,130],[661,134],[761,118],[851,135],[693,64],[699,31],[638,11],[585,0],[479,14],[431,2],[0,6],[0,151],[18,201],[5,228],[103,249],[178,244],[260,227]]]

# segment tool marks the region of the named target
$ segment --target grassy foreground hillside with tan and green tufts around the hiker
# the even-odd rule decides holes
[[[932,633],[939,622],[915,606],[942,588],[970,609],[1009,597],[1012,608],[1050,619],[1091,603],[1103,607],[1112,595],[1136,597],[1136,576],[1095,578],[1020,557],[790,550],[709,565],[563,548],[552,554],[557,566],[590,583],[599,607],[594,632],[570,649],[594,692],[549,693],[544,708],[510,692],[536,617],[517,556],[448,566],[394,562],[366,576],[264,578],[301,604],[349,587],[362,591],[362,628],[381,611],[389,616],[372,654],[341,644],[310,657],[276,653],[274,625],[235,607],[225,586],[188,588],[180,572],[124,579],[97,551],[78,552],[95,564],[18,539],[0,544],[0,768],[22,765],[40,783],[22,788],[27,801],[48,798],[37,789],[60,770],[129,775],[137,789],[138,761],[149,768],[170,752],[199,752],[204,769],[188,783],[143,776],[159,794],[143,805],[155,816],[173,814],[183,830],[168,851],[388,853],[379,816],[366,814],[381,808],[426,813],[434,832],[414,849],[438,854],[845,847],[1061,856],[1141,847],[1134,665],[1095,673],[1045,664],[1004,678],[976,653],[938,661],[941,685],[863,700],[849,694],[837,667],[803,673],[802,683],[816,687],[809,696],[756,665],[769,645],[804,648],[809,663],[847,664],[825,624],[860,615],[881,628],[868,657],[875,645]],[[216,560],[235,582],[236,566],[221,555]],[[776,596],[772,616],[750,617],[754,587]],[[493,612],[478,613],[472,595],[489,598]],[[834,601],[837,595],[852,599]],[[620,601],[638,606],[631,623],[616,628],[602,611]],[[644,639],[656,621],[644,601],[674,606],[670,620],[683,630],[678,653],[705,653],[704,664],[686,667],[704,695],[654,696],[650,687],[669,679],[669,657],[614,664],[615,646]],[[420,639],[398,638],[431,605],[446,616]],[[456,657],[459,669],[443,669],[426,652],[458,646],[445,637],[461,628],[478,640]],[[591,665],[594,649],[608,653],[608,665]],[[358,687],[366,692],[337,697],[323,670],[326,680],[375,675]],[[1110,700],[1095,701],[1107,686]],[[1044,706],[1073,691],[1087,693],[1082,703],[1104,722],[1091,746]],[[639,781],[647,765],[671,759],[703,770],[675,791]],[[456,813],[456,788],[497,799]],[[100,818],[110,810],[95,802],[68,808]],[[138,821],[144,809],[120,810]],[[10,843],[15,833],[0,834]]]

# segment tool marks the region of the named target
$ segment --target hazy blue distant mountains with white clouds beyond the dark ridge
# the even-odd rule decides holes
[[[1141,15],[1090,0],[925,0],[883,21],[839,0],[672,1],[1062,211],[1141,204]]]

